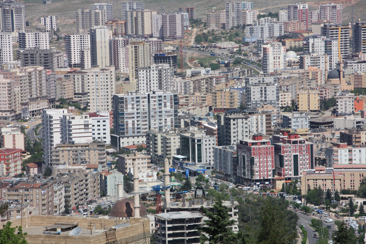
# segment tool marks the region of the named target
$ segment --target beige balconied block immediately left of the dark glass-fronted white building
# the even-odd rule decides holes
[[[146,153],[153,163],[162,163],[166,158],[170,162],[178,154],[179,147],[180,137],[174,131],[146,132]]]

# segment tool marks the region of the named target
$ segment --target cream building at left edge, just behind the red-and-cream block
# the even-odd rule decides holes
[[[18,128],[0,128],[0,148],[24,150],[24,134]]]

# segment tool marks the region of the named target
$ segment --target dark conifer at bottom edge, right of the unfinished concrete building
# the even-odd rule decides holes
[[[208,235],[201,235],[201,242],[210,244],[236,243],[237,237],[229,227],[235,223],[235,220],[230,220],[229,208],[223,205],[222,200],[219,199],[215,202],[214,211],[209,211],[203,206],[201,206],[201,211],[208,218],[208,220],[204,220],[205,226],[198,228]]]

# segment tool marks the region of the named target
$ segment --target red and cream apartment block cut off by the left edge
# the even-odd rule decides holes
[[[0,149],[0,167],[3,176],[16,176],[22,173],[22,149]]]

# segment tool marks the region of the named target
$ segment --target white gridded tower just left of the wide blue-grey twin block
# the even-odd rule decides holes
[[[89,111],[112,111],[112,96],[116,91],[114,66],[87,72]]]

